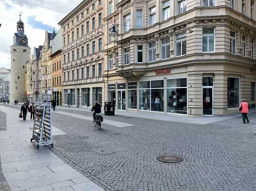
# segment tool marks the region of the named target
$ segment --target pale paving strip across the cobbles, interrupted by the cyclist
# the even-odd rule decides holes
[[[84,116],[84,115],[79,115],[79,114],[67,113],[67,112],[63,112],[63,111],[55,111],[54,113],[62,114],[62,115],[69,115],[69,116],[76,117],[76,118],[79,118],[79,119],[84,119],[84,120],[92,121],[92,116],[89,117],[89,116]],[[128,126],[133,126],[132,124],[129,124],[129,123],[116,122],[116,121],[107,120],[107,119],[104,119],[104,121],[103,121],[102,123],[108,124],[108,125],[113,125],[113,126],[116,126],[116,127],[128,127]]]

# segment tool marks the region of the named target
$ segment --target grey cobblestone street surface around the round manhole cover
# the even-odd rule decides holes
[[[103,124],[99,131],[91,121],[54,113],[53,125],[67,133],[54,136],[54,151],[112,191],[256,191],[256,113],[248,116],[249,124],[240,117],[206,125],[104,116],[133,126]],[[156,160],[163,153],[184,161]]]

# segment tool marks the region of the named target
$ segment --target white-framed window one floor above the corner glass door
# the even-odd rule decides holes
[[[204,53],[211,53],[215,51],[215,29],[203,28],[202,35],[202,51]]]

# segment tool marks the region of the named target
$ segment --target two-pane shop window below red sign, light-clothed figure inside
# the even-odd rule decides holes
[[[139,83],[139,109],[164,111],[164,81],[146,81]]]

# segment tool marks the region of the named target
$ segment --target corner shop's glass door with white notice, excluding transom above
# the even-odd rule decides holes
[[[203,115],[213,115],[213,88],[203,88]]]

